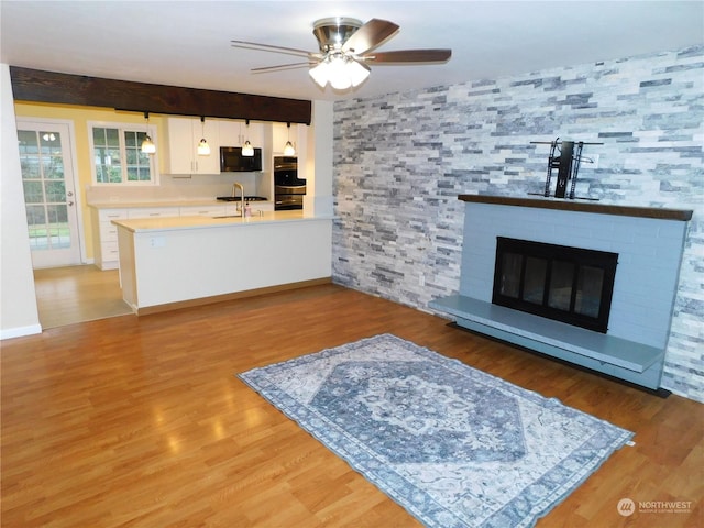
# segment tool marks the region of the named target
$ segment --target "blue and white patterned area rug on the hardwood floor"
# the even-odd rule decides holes
[[[391,334],[239,377],[428,527],[534,526],[632,437]]]

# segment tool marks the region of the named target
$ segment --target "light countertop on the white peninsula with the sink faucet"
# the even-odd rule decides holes
[[[210,228],[232,228],[256,224],[289,223],[330,221],[331,216],[305,217],[301,210],[296,211],[264,211],[262,215],[254,213],[252,217],[158,217],[158,218],[135,218],[132,220],[113,220],[112,223],[134,233],[156,232],[156,231],[183,231],[188,229],[210,229]]]

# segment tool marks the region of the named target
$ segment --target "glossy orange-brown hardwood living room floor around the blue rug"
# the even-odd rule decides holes
[[[703,526],[703,405],[323,285],[3,341],[2,527],[420,526],[235,377],[384,332],[636,432],[538,527]]]

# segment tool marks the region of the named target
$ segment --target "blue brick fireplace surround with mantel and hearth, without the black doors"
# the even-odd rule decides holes
[[[461,195],[460,289],[430,306],[473,331],[650,389],[662,376],[690,210]],[[606,334],[492,305],[496,237],[618,253]]]

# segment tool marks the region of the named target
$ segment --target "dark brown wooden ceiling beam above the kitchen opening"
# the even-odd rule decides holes
[[[18,101],[310,124],[311,101],[103,79],[10,66]]]

